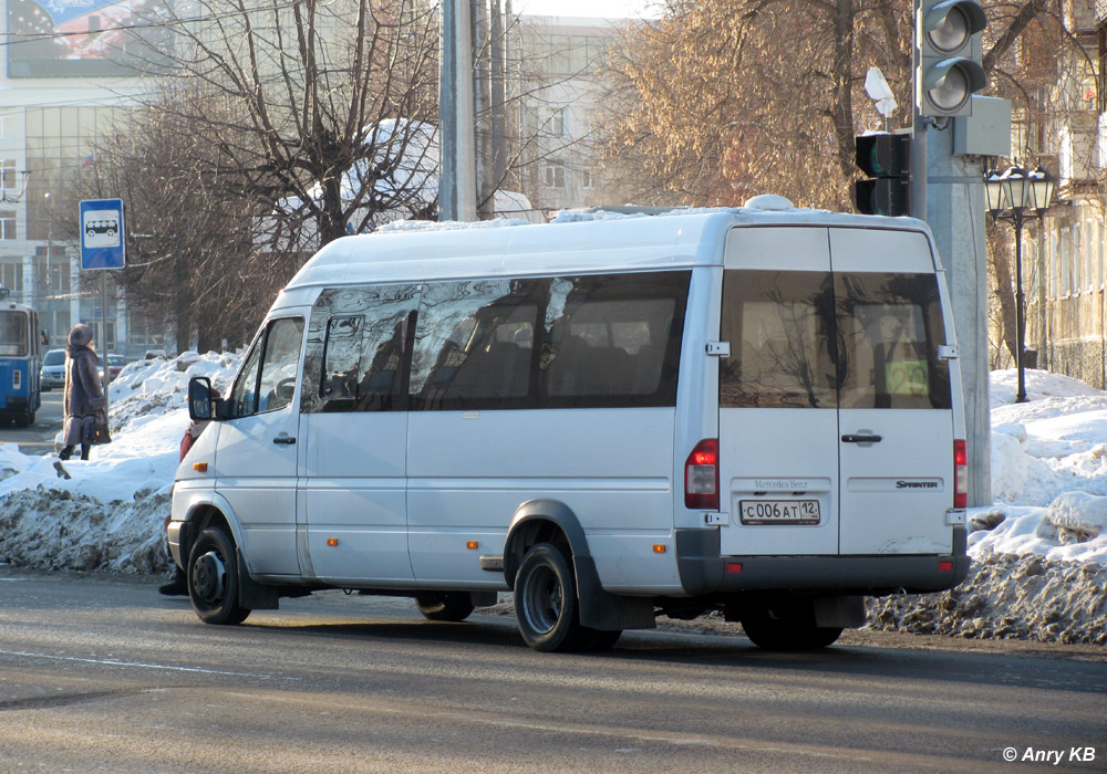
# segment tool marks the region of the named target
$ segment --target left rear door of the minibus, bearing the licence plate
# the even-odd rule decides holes
[[[838,551],[834,283],[826,228],[727,237],[720,364],[723,554]]]

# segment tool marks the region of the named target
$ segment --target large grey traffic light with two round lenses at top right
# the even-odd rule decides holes
[[[914,88],[919,115],[972,115],[972,95],[987,83],[980,44],[973,40],[987,27],[984,9],[976,0],[917,1]]]

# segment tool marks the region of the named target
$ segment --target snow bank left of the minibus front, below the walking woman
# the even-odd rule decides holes
[[[168,569],[164,523],[188,427],[188,379],[208,376],[227,390],[237,355],[184,353],[127,365],[112,383],[113,441],[87,462],[69,460],[60,479],[52,456],[0,446],[0,562],[46,569],[158,573]]]

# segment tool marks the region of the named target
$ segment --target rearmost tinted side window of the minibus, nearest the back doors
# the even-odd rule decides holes
[[[690,278],[552,280],[541,332],[544,406],[674,406]]]

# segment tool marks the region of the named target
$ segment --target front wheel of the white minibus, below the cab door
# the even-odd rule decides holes
[[[205,624],[234,626],[250,615],[238,604],[238,552],[219,526],[199,534],[188,555],[188,598]]]

